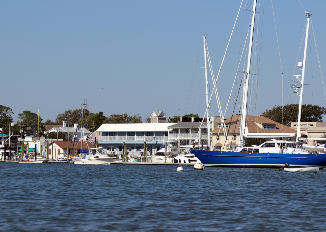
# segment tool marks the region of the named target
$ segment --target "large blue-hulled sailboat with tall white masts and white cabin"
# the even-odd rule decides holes
[[[311,13],[306,12],[306,34],[304,45],[304,60],[298,63],[298,67],[302,69],[302,75],[296,76],[296,88],[295,92],[300,96],[299,100],[299,115],[298,115],[298,127],[296,134],[289,133],[248,133],[246,127],[246,109],[247,109],[247,97],[248,97],[248,85],[249,74],[251,64],[251,51],[255,27],[255,15],[256,15],[257,0],[253,2],[251,23],[250,23],[250,40],[248,46],[248,60],[246,72],[244,72],[244,85],[242,92],[242,117],[240,124],[240,146],[236,150],[227,151],[209,151],[209,150],[195,150],[190,151],[195,154],[196,157],[205,166],[212,167],[249,167],[249,168],[280,168],[284,166],[284,163],[288,163],[291,167],[311,167],[311,166],[325,166],[326,154],[312,154],[308,150],[304,149],[303,143],[299,141],[301,137],[300,120],[301,120],[301,107],[304,87],[304,72],[307,53],[307,42],[309,34],[309,23]],[[205,60],[205,68],[206,60]],[[215,81],[216,86],[216,81]],[[215,88],[214,86],[214,88]],[[214,90],[213,90],[214,91]],[[217,96],[217,93],[215,92]],[[211,96],[212,98],[212,96]],[[210,101],[209,101],[210,102]],[[209,111],[209,102],[207,103],[206,112]],[[206,114],[206,113],[205,113]],[[208,116],[208,114],[207,114]],[[223,122],[223,121],[222,121]],[[209,138],[210,136],[208,136]],[[262,143],[259,146],[246,147],[244,141],[246,138],[289,138],[296,137],[296,141],[288,140],[276,140]],[[210,143],[208,143],[210,144]]]

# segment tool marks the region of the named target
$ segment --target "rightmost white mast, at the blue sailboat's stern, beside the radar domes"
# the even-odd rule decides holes
[[[306,55],[307,55],[307,45],[308,45],[308,35],[309,35],[309,23],[310,23],[310,13],[307,13],[307,26],[306,26],[306,38],[304,42],[304,62],[302,64],[302,76],[301,81],[299,79],[299,76],[297,77],[298,80],[301,82],[301,89],[300,89],[300,100],[299,100],[299,112],[298,112],[298,127],[297,127],[297,141],[299,141],[299,138],[301,137],[301,131],[300,131],[300,120],[301,120],[301,106],[302,106],[302,96],[304,95],[304,70],[305,70],[305,61],[306,61]]]

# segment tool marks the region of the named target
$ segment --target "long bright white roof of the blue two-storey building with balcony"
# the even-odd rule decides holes
[[[168,127],[175,123],[119,123],[102,124],[96,131],[99,132],[125,132],[125,131],[168,131]]]

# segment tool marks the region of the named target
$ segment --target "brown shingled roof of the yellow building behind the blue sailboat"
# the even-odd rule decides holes
[[[236,116],[238,116],[238,115],[236,115]],[[240,119],[241,115],[238,118]],[[228,119],[230,119],[230,117]],[[234,121],[234,120],[232,119],[232,121]],[[266,123],[275,124],[276,129],[262,129],[261,127],[257,126],[257,124],[255,122],[257,122],[259,124],[266,124]],[[275,122],[271,119],[265,118],[264,116],[247,116],[246,117],[246,126],[248,127],[249,133],[296,133],[296,131],[293,130],[292,128],[289,128],[289,127],[282,125],[278,122]],[[219,130],[220,130],[220,128],[215,128],[212,132],[218,133]],[[226,131],[228,133],[239,133],[240,132],[240,121],[231,125],[229,128],[226,128]],[[223,134],[222,129],[220,131],[220,134]]]

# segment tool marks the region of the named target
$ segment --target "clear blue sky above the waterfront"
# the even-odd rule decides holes
[[[282,104],[282,75],[272,4],[258,2],[259,12],[263,12],[259,15],[259,81],[257,103],[256,93],[252,102],[259,115]],[[179,114],[179,108],[181,116],[203,116],[205,97],[199,95],[205,92],[200,70],[204,65],[202,34],[207,34],[216,76],[240,3],[1,1],[0,104],[13,109],[15,121],[18,113],[37,112],[37,108],[44,120],[54,120],[59,112],[80,108],[83,99],[87,99],[91,112],[103,111],[106,116],[127,113],[145,118],[158,108],[171,117]],[[326,2],[301,3],[312,13],[322,72],[326,75]],[[244,6],[251,9],[251,4],[244,1],[217,82],[223,111],[237,72],[240,41],[242,38],[243,46],[248,29],[250,15]],[[273,6],[286,104],[305,14],[297,0],[273,1]],[[305,83],[314,85],[305,86],[304,103],[325,106],[313,34],[310,35],[311,56],[308,50]],[[303,46],[298,61],[302,60]],[[301,71],[296,68],[295,74]],[[255,80],[253,89],[256,84]],[[234,97],[232,101],[234,104]],[[212,114],[218,116],[215,102]],[[289,103],[295,102],[296,95],[291,93]],[[226,117],[232,111],[233,106]]]

